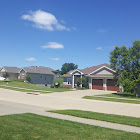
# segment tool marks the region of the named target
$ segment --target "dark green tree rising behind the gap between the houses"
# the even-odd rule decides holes
[[[66,74],[67,72],[71,71],[71,70],[74,70],[74,69],[77,69],[78,68],[78,65],[75,65],[73,63],[65,63],[62,65],[62,68],[61,68],[61,74]]]

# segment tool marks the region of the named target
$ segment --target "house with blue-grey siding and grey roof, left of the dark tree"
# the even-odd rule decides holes
[[[31,77],[32,84],[51,86],[57,76],[57,71],[43,66],[24,67],[19,72],[19,79],[25,80],[26,75]]]

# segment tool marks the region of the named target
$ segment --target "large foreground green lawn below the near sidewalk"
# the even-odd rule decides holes
[[[140,134],[34,114],[0,117],[0,140],[139,140]]]

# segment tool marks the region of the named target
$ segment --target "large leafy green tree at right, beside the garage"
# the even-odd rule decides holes
[[[118,47],[110,52],[110,65],[116,70],[114,78],[117,84],[124,87],[124,91],[137,95],[140,84],[140,41],[134,41],[133,46]]]

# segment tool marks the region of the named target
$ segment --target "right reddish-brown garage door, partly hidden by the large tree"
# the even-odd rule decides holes
[[[107,79],[107,90],[119,91],[119,86],[115,86],[116,81],[114,79]]]

